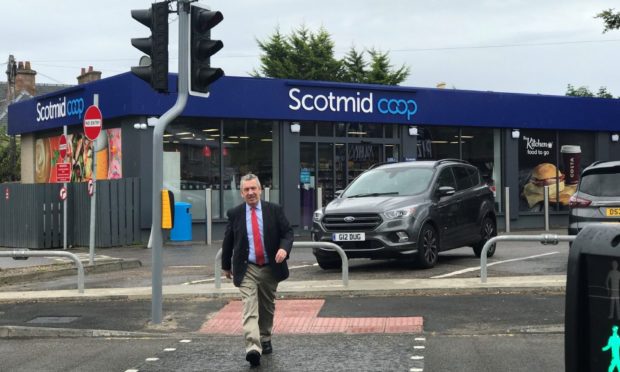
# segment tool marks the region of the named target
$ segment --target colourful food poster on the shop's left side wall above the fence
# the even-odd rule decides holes
[[[98,180],[123,177],[123,151],[121,129],[103,130],[96,141],[88,140],[83,133],[67,136],[67,155],[60,158],[60,136],[39,138],[35,142],[35,182],[56,183],[56,164],[71,163],[71,181],[85,182],[92,176],[93,145],[97,156]]]

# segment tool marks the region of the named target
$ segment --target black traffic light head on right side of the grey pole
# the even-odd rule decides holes
[[[211,67],[211,56],[224,47],[221,40],[211,40],[211,29],[224,16],[218,11],[192,5],[190,10],[189,93],[209,95],[209,85],[224,76],[224,70]]]

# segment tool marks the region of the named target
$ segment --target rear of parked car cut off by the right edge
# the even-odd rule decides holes
[[[568,234],[592,223],[620,223],[620,161],[595,162],[581,172],[568,201]]]

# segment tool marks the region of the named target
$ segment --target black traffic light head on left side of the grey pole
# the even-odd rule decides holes
[[[134,9],[131,17],[151,29],[150,37],[133,38],[131,45],[151,57],[150,63],[131,68],[137,77],[158,92],[168,91],[168,2],[153,3],[150,9]]]

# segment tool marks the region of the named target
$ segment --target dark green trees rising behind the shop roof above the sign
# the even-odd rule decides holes
[[[257,42],[263,54],[260,72],[252,73],[256,77],[398,85],[409,75],[409,67],[393,70],[388,54],[374,49],[367,51],[370,62],[355,48],[335,58],[334,42],[324,28],[313,33],[302,26],[290,35],[276,29],[266,41]]]

